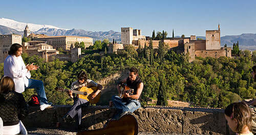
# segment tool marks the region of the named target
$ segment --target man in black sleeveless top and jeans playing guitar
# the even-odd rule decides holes
[[[123,79],[121,83],[126,83],[129,88],[134,89],[134,95],[125,93],[123,98],[120,98],[119,96],[112,97],[112,102],[117,109],[116,115],[113,117],[113,119],[119,119],[128,112],[133,113],[141,106],[138,99],[143,90],[142,80],[138,75],[137,68],[132,67],[129,71],[129,76]],[[117,90],[120,94],[120,85],[117,86]]]

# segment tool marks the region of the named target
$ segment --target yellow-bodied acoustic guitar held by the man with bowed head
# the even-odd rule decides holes
[[[55,88],[56,91],[61,91],[61,92],[68,92],[69,89],[64,89],[64,88],[61,88],[61,87],[56,87]],[[72,90],[73,93],[75,94],[78,94],[78,98],[81,98],[81,99],[86,99],[87,101],[89,101],[90,103],[97,103],[100,99],[100,94],[99,93],[95,98],[91,99],[89,98],[90,95],[92,93],[94,93],[94,91],[97,90],[97,87],[92,87],[92,88],[88,88],[88,87],[80,87],[78,89],[78,91],[76,90]]]

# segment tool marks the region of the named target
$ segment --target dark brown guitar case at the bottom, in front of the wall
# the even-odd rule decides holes
[[[131,114],[122,116],[119,120],[111,120],[101,129],[79,131],[77,135],[137,135],[138,123]]]

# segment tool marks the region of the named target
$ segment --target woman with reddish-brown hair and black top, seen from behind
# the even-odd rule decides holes
[[[20,127],[23,126],[20,120],[28,115],[23,95],[14,90],[12,78],[3,77],[0,82],[0,117],[4,124],[4,134],[20,134],[22,131]]]

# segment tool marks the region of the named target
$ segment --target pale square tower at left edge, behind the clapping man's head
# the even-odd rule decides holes
[[[8,51],[12,44],[22,44],[22,35],[10,34],[0,35],[0,62],[3,63],[8,56]]]

